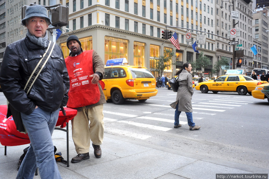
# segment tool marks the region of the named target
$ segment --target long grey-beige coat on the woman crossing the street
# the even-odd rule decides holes
[[[179,87],[176,98],[176,101],[178,101],[178,111],[192,112],[192,75],[187,70],[182,70],[178,81]]]

